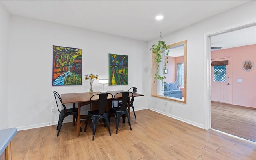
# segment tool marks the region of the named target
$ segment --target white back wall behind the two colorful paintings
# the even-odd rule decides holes
[[[82,49],[82,86],[52,86],[53,45]],[[23,130],[57,124],[58,111],[52,92],[88,92],[89,83],[84,80],[84,75],[96,73],[99,78],[108,78],[109,53],[128,55],[128,81],[131,83],[105,85],[105,90],[137,87],[138,93],[143,94],[142,63],[146,46],[144,41],[11,16],[8,54],[9,127]],[[94,81],[93,87],[94,91],[103,89],[98,80]],[[146,102],[145,97],[136,97],[134,105],[146,108]],[[55,113],[50,113],[51,107],[55,107]]]

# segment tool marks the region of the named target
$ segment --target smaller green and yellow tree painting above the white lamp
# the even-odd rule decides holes
[[[109,54],[109,85],[128,85],[128,55]]]

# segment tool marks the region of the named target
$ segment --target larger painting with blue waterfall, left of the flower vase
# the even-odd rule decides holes
[[[82,49],[53,45],[52,85],[82,85]]]

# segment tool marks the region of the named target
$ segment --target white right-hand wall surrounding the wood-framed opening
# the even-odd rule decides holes
[[[151,81],[147,81],[144,86],[145,94],[148,96],[148,107],[159,113],[188,122],[201,128],[207,128],[205,124],[205,109],[210,106],[204,106],[207,99],[204,95],[208,92],[209,86],[205,85],[207,79],[206,52],[204,47],[204,34],[213,34],[230,28],[243,26],[256,22],[256,2],[249,2],[232,10],[228,10],[192,26],[186,27],[172,34],[162,33],[162,39],[167,45],[179,41],[188,40],[187,43],[187,104],[167,101],[164,106],[163,99],[150,97]],[[203,14],[203,13],[202,13]],[[188,15],[190,16],[190,15]],[[150,48],[157,40],[148,42],[146,55],[150,55]],[[151,59],[146,61],[144,68],[151,66]],[[144,74],[145,79],[150,79],[151,70]],[[210,97],[209,97],[210,99]],[[206,107],[206,108],[205,108]],[[209,115],[206,115],[206,117]]]

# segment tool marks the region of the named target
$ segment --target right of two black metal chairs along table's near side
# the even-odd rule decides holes
[[[123,122],[125,122],[125,116],[127,116],[130,130],[132,130],[130,118],[129,118],[129,111],[128,111],[128,107],[130,105],[130,103],[128,103],[129,99],[130,99],[129,94],[131,94],[133,96],[132,92],[120,92],[120,93],[116,93],[116,95],[114,95],[114,99],[116,99],[116,97],[121,97],[121,99],[122,99],[121,107],[114,107],[114,103],[113,103],[113,107],[110,109],[110,113],[114,113],[114,115],[116,117],[116,134],[117,134],[119,119],[120,119],[121,115],[123,115]],[[109,121],[110,121],[110,118],[111,118],[111,116],[109,117]]]

